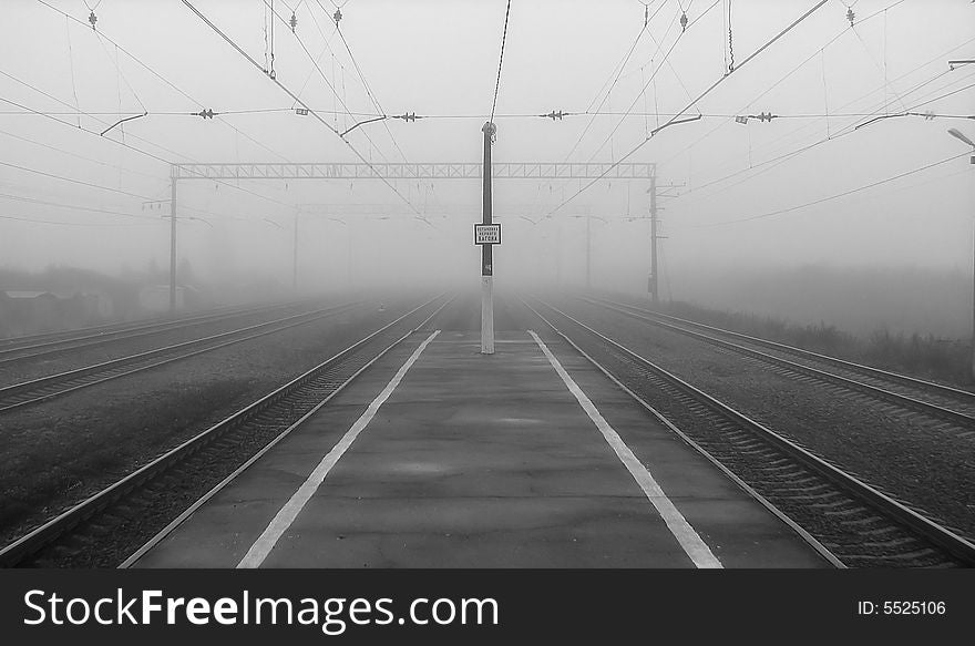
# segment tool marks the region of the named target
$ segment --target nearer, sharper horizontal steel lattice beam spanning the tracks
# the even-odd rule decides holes
[[[650,180],[653,163],[505,162],[494,178]],[[173,164],[174,180],[478,180],[482,165],[460,164]]]

